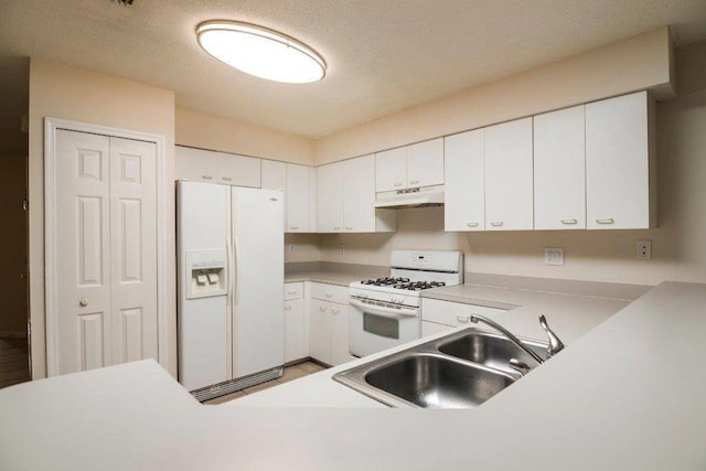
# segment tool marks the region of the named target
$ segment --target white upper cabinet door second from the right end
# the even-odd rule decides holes
[[[586,228],[585,107],[534,117],[534,228]]]

